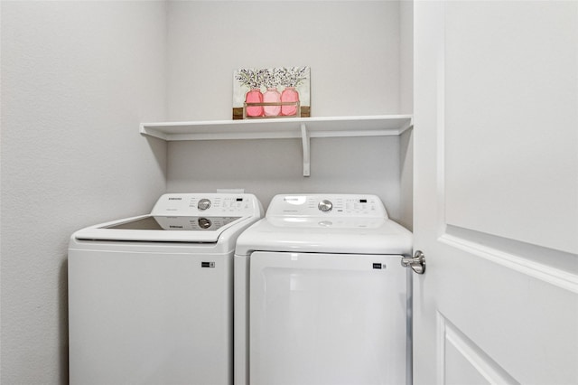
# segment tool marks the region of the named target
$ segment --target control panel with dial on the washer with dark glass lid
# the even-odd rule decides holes
[[[167,193],[154,205],[151,215],[247,216],[258,215],[260,204],[247,193]]]

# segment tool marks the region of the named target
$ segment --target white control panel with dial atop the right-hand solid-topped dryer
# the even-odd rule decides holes
[[[371,217],[387,219],[387,210],[376,195],[294,194],[276,195],[267,217]]]

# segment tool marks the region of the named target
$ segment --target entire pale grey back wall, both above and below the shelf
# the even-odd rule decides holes
[[[312,116],[400,112],[399,4],[392,1],[171,2],[169,117],[230,119],[236,68],[311,66]],[[369,192],[400,218],[399,138],[312,139],[303,178],[297,140],[169,144],[172,192],[245,188]]]

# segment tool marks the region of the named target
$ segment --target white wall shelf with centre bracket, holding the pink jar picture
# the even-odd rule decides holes
[[[411,115],[288,117],[142,123],[140,132],[166,141],[301,138],[303,176],[309,176],[311,137],[398,136],[412,125]]]

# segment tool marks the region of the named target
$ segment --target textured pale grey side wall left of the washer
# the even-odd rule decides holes
[[[67,381],[67,245],[149,211],[166,146],[163,2],[2,2],[2,371]]]

